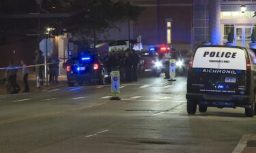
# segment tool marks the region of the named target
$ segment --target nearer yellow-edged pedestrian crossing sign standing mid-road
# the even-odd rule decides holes
[[[120,84],[120,73],[119,71],[111,71],[111,94],[114,95],[110,100],[120,100],[117,96],[119,95],[119,84]]]

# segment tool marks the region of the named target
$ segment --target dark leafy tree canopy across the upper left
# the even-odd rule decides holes
[[[0,3],[0,15],[38,12],[35,0],[0,0]],[[115,2],[112,0],[44,0],[40,7],[41,14],[68,13],[71,16],[70,18],[42,18],[41,27],[55,27],[53,31],[55,35],[59,35],[62,29],[66,29],[70,33],[79,35],[82,33],[90,38],[96,37],[96,33],[106,32],[109,28],[117,28],[115,22],[126,20],[127,14],[131,20],[136,20],[141,12],[141,7],[121,0]],[[5,25],[0,24],[0,30],[3,31],[3,27],[5,27],[4,30],[15,28],[17,31],[32,29],[32,27],[37,29],[37,18],[23,20],[27,21],[18,27],[14,25],[15,22],[5,20]]]

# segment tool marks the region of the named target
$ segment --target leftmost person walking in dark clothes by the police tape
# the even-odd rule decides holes
[[[18,93],[20,91],[20,86],[18,86],[16,82],[17,78],[17,69],[14,67],[13,61],[10,62],[10,65],[7,67],[5,71],[5,85],[7,88],[7,92],[9,94]]]

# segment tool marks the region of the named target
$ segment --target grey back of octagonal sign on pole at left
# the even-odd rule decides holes
[[[51,55],[53,53],[53,41],[51,39],[42,39],[42,41],[40,41],[40,50],[42,51],[42,55],[47,56]]]

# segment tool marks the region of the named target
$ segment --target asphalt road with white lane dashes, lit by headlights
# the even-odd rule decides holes
[[[244,109],[186,113],[186,77],[111,86],[63,86],[0,96],[0,153],[232,152],[256,133]]]

